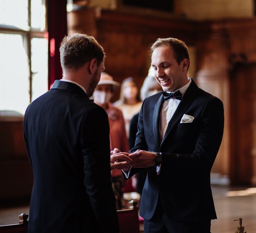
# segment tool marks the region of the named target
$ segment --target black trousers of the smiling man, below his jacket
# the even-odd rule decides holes
[[[211,220],[199,222],[171,221],[165,214],[161,201],[158,201],[156,211],[150,220],[144,219],[145,233],[211,233]]]

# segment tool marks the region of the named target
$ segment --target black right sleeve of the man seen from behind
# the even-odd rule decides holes
[[[106,112],[93,108],[81,125],[84,185],[102,232],[119,232],[110,181],[109,123]]]

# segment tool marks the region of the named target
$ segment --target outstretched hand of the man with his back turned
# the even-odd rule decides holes
[[[110,151],[110,167],[111,170],[118,169],[118,170],[129,170],[130,169],[130,162],[132,159],[128,157],[129,153],[121,152],[119,149],[115,148],[114,150]]]

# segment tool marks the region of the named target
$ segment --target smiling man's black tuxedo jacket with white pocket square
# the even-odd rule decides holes
[[[156,166],[147,168],[140,215],[149,220],[160,198],[172,221],[215,219],[210,171],[223,135],[223,104],[199,89],[192,80],[161,141],[159,114],[162,103],[161,93],[144,100],[132,149],[132,152],[141,149],[162,153],[160,174],[157,175]],[[183,114],[194,116],[194,120],[180,123]],[[132,168],[129,177],[139,170]]]

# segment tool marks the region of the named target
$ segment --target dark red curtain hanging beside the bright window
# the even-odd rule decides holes
[[[67,0],[47,0],[48,89],[61,79],[60,43],[67,35]]]

